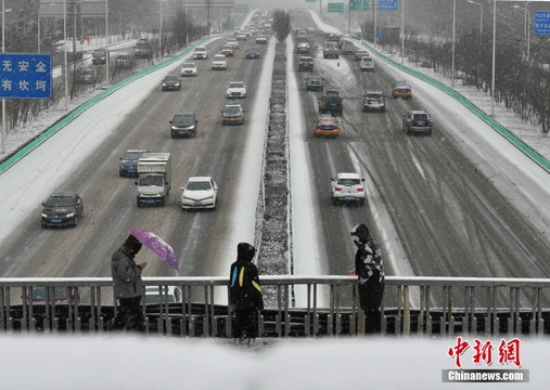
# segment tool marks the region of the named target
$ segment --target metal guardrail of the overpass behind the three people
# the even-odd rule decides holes
[[[178,286],[180,302],[163,292],[143,306],[149,333],[229,337],[226,277],[148,277],[145,286]],[[259,335],[358,336],[364,333],[354,276],[261,276],[266,309]],[[34,286],[46,287],[33,302]],[[62,287],[67,300],[56,300]],[[297,289],[305,307],[292,304]],[[161,289],[162,291],[164,289]],[[382,334],[550,334],[550,280],[386,277]],[[328,298],[327,306],[319,306]],[[0,332],[108,332],[116,315],[111,278],[0,278]],[[221,302],[221,303],[218,303]]]

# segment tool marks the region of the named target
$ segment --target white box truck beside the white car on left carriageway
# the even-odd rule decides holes
[[[171,184],[169,153],[144,153],[138,160],[138,207],[166,204]]]

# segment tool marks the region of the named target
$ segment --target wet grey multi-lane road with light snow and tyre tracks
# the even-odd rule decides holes
[[[307,13],[299,13],[294,23],[299,27],[315,26]],[[323,60],[322,37],[310,40],[317,43],[312,44],[317,49],[310,54],[315,57],[315,72],[324,78],[325,90],[343,94],[344,114],[338,138],[314,135],[320,92],[305,91],[305,73],[297,70],[298,55],[293,53],[290,41],[290,140],[291,147],[305,151],[302,160],[291,160],[291,176],[293,165],[306,167],[308,178],[302,185],[310,188],[310,198],[295,199],[293,208],[308,210],[314,221],[312,225],[303,224],[306,221],[292,222],[295,232],[308,229],[309,237],[307,243],[295,239],[294,246],[315,246],[309,251],[314,259],[304,259],[300,252],[294,261],[317,262],[315,271],[298,265],[300,273],[347,274],[355,252],[349,230],[366,222],[383,246],[388,275],[550,275],[546,261],[550,240],[540,221],[532,218],[537,208],[546,207],[542,197],[535,193],[537,190],[532,192],[529,185],[522,183],[507,190],[508,181],[522,176],[513,162],[502,164],[501,168],[495,168],[498,164],[484,166],[483,158],[501,156],[491,145],[466,140],[468,134],[476,133],[477,122],[464,119],[459,108],[426,93],[425,89],[415,89],[419,81],[413,83],[412,100],[388,99],[385,113],[362,113],[362,95],[368,89],[389,94],[393,81],[400,76],[379,58],[373,73],[361,73],[351,57]],[[263,102],[270,92],[266,80],[270,77],[267,70],[272,61],[273,41],[274,38],[263,47],[261,60],[245,60],[244,47],[252,42],[241,44],[235,56],[229,60],[227,72],[210,70],[209,60],[196,61],[199,76],[184,78],[181,92],[162,92],[161,78],[137,80],[143,83],[143,95],[139,96],[136,109],[124,117],[98,118],[88,123],[76,121],[82,142],[87,142],[88,127],[101,126],[105,120],[116,123],[93,146],[93,153],[72,167],[71,174],[62,181],[63,188],[76,190],[85,197],[86,217],[77,229],[43,230],[39,223],[40,207],[36,205],[2,240],[0,274],[107,276],[111,253],[125,231],[144,227],[162,235],[181,253],[179,274],[225,275],[228,262],[234,257],[236,243],[231,239],[253,238],[252,233],[242,239],[233,233],[241,220],[255,218],[255,203],[247,200],[243,206],[242,196],[245,193],[248,199],[251,194],[255,197],[259,187],[259,170],[247,166],[251,159],[246,156],[257,154],[256,150],[263,147],[265,121],[261,118],[267,117],[267,104]],[[223,42],[225,39],[218,39],[208,43],[210,54],[219,51]],[[227,103],[225,87],[232,80],[242,80],[248,87],[248,96],[241,101],[246,120],[243,126],[226,127],[220,122],[220,110]],[[114,99],[116,94],[108,98],[112,105],[117,104]],[[418,107],[425,108],[434,118],[432,136],[407,136],[400,130],[402,114]],[[196,138],[170,139],[168,120],[181,110],[196,112]],[[88,115],[85,117],[90,120]],[[259,119],[252,120],[252,117]],[[62,136],[64,131],[55,138]],[[459,141],[461,138],[463,142]],[[251,142],[251,139],[258,141]],[[44,143],[26,158],[39,159],[41,150],[47,147]],[[137,208],[133,181],[118,177],[118,158],[133,147],[171,153],[174,183],[164,208]],[[82,152],[75,148],[72,153]],[[476,155],[483,158],[473,158]],[[332,205],[330,179],[340,171],[358,171],[366,178],[368,204],[364,207]],[[251,172],[258,172],[258,177],[243,182],[243,176]],[[190,176],[199,174],[213,176],[217,181],[219,205],[212,212],[183,212],[179,186]],[[25,185],[25,191],[42,191]],[[42,195],[46,199],[49,193]],[[296,253],[295,248],[293,252]],[[172,274],[159,261],[151,262],[146,269],[146,276]]]

